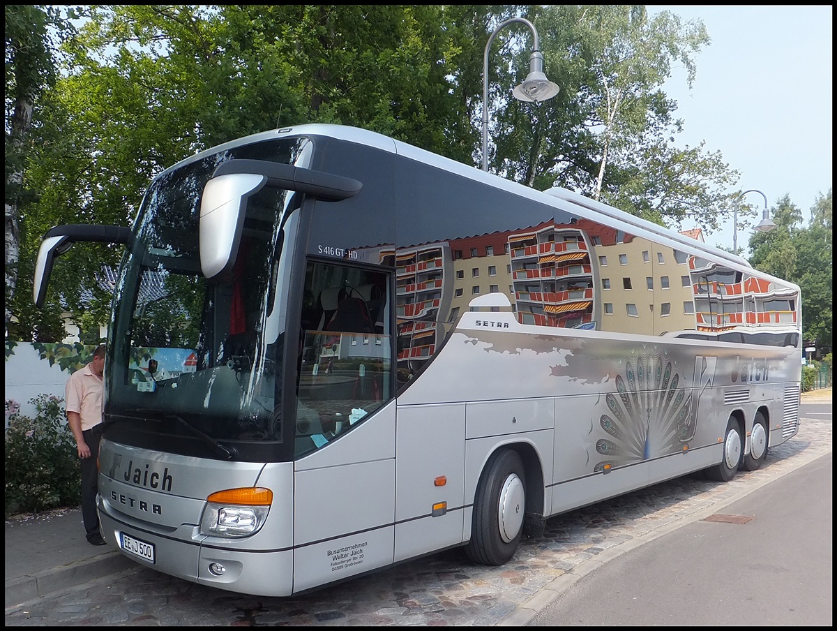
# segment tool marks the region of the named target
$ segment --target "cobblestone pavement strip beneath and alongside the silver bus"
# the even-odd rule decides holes
[[[448,551],[303,597],[248,597],[148,569],[6,610],[7,626],[494,626],[526,623],[562,588],[614,556],[702,519],[831,451],[831,421],[803,419],[763,468],[727,484],[686,476],[547,521],[502,567]]]

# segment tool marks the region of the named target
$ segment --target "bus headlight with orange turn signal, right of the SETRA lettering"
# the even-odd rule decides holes
[[[273,492],[256,487],[218,491],[207,498],[201,534],[222,537],[253,535],[267,519]]]

